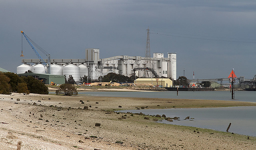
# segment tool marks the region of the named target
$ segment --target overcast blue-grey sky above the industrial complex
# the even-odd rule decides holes
[[[0,0],[0,67],[16,73],[21,59],[37,58],[20,31],[52,59],[84,59],[86,48],[144,57],[148,27],[151,57],[177,53],[177,78],[256,74],[252,0]]]

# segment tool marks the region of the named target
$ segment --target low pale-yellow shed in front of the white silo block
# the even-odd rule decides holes
[[[172,87],[172,80],[168,78],[138,78],[134,84],[149,83],[156,87]]]

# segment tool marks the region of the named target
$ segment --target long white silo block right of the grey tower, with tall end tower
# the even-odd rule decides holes
[[[136,74],[138,77],[152,77],[152,73],[145,73],[146,58],[140,56],[115,56],[102,59],[104,75],[114,72],[130,77]],[[148,60],[158,77],[171,77],[176,80],[176,53],[168,53],[164,58],[163,53],[154,53]]]

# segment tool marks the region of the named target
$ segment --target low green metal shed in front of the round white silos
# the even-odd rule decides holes
[[[22,73],[18,74],[18,76],[32,76],[40,81],[42,81],[44,84],[64,84],[65,83],[65,76],[64,75],[52,75],[52,74],[40,74],[40,73]]]

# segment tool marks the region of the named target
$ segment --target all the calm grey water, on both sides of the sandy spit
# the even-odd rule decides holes
[[[79,95],[101,97],[146,97],[146,98],[172,98],[172,99],[205,99],[224,101],[256,102],[256,92],[235,91],[235,99],[231,99],[229,91],[176,91],[166,92],[79,92]],[[228,107],[228,108],[203,108],[203,109],[141,109],[120,112],[144,113],[150,115],[165,114],[167,117],[180,117],[180,121],[160,123],[195,126],[226,131],[231,122],[229,132],[256,136],[256,107]],[[183,120],[187,116],[194,118],[192,121]]]

